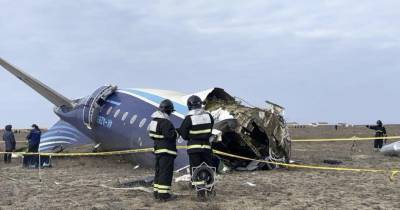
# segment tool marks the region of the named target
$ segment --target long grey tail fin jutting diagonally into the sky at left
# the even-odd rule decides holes
[[[0,58],[0,65],[5,68],[7,71],[9,71],[11,74],[16,76],[18,79],[23,81],[25,84],[30,86],[32,89],[34,89],[36,92],[38,92],[40,95],[45,97],[47,100],[49,100],[51,103],[56,105],[57,107],[60,106],[65,106],[68,108],[74,107],[74,103],[66,98],[65,96],[61,95],[57,91],[53,90],[52,88],[48,87],[47,85],[43,84],[39,80],[33,78],[31,75],[21,71],[17,67],[11,65],[4,59]]]

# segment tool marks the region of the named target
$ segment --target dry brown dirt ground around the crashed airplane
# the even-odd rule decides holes
[[[399,129],[388,130],[398,135]],[[291,132],[293,138],[372,135],[361,128]],[[323,166],[330,166],[324,160],[333,159],[343,161],[340,167],[400,168],[400,157],[373,152],[372,142],[352,144],[293,143],[293,159]],[[40,182],[38,170],[21,168],[19,159],[10,165],[1,162],[0,209],[400,209],[400,174],[391,182],[389,173],[310,169],[231,172],[219,176],[217,196],[210,202],[197,201],[186,183],[174,183],[179,199],[158,203],[151,193],[105,187],[153,173],[135,169],[120,157],[58,158],[53,165],[41,171]]]

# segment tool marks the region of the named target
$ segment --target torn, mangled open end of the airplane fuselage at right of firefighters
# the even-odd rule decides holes
[[[213,148],[257,160],[288,162],[291,141],[282,113],[276,107],[249,107],[222,89],[215,89],[205,100],[206,110],[214,119],[219,141]],[[220,157],[233,168],[265,168],[266,164]],[[267,166],[270,167],[270,166]]]

